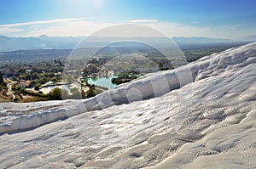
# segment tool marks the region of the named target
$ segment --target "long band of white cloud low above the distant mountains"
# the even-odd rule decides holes
[[[199,25],[183,25],[172,22],[161,22],[159,20],[130,20],[120,23],[96,22],[86,20],[89,18],[73,18],[60,20],[43,20],[26,23],[0,25],[0,34],[12,37],[38,37],[47,35],[50,37],[78,37],[90,36],[94,32],[112,25],[138,24],[146,25],[164,33],[167,37],[222,37],[236,38],[244,36],[244,30],[235,27],[202,27]],[[228,29],[227,29],[228,28]],[[236,26],[237,28],[237,26]],[[252,33],[247,30],[247,33]],[[131,37],[147,37],[150,33],[146,31],[134,31]],[[122,36],[122,31],[107,32],[104,37]],[[234,37],[236,35],[236,37]]]

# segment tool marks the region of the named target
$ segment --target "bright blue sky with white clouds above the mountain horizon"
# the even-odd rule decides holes
[[[253,0],[1,0],[0,35],[88,36],[136,23],[168,37],[236,38],[256,34],[255,8]]]

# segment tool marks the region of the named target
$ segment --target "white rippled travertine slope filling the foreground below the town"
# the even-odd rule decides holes
[[[91,99],[0,104],[0,167],[253,168],[255,65],[251,43]]]

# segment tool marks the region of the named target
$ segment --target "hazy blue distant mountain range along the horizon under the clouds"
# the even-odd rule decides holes
[[[85,37],[48,37],[42,35],[40,37],[4,37],[0,36],[0,51],[8,52],[14,50],[27,49],[67,49],[75,48]],[[122,40],[140,42],[154,42],[165,46],[169,42],[165,37],[88,37],[83,47],[97,48],[102,47],[106,42],[119,42]],[[207,37],[172,37],[172,40],[178,45],[193,45],[207,43],[223,43],[223,42],[252,42],[256,40],[256,36],[241,37],[237,40],[207,38]],[[125,45],[127,45],[126,43]],[[131,45],[131,44],[130,44]],[[122,47],[122,46],[119,46]],[[125,46],[126,47],[126,46]]]

